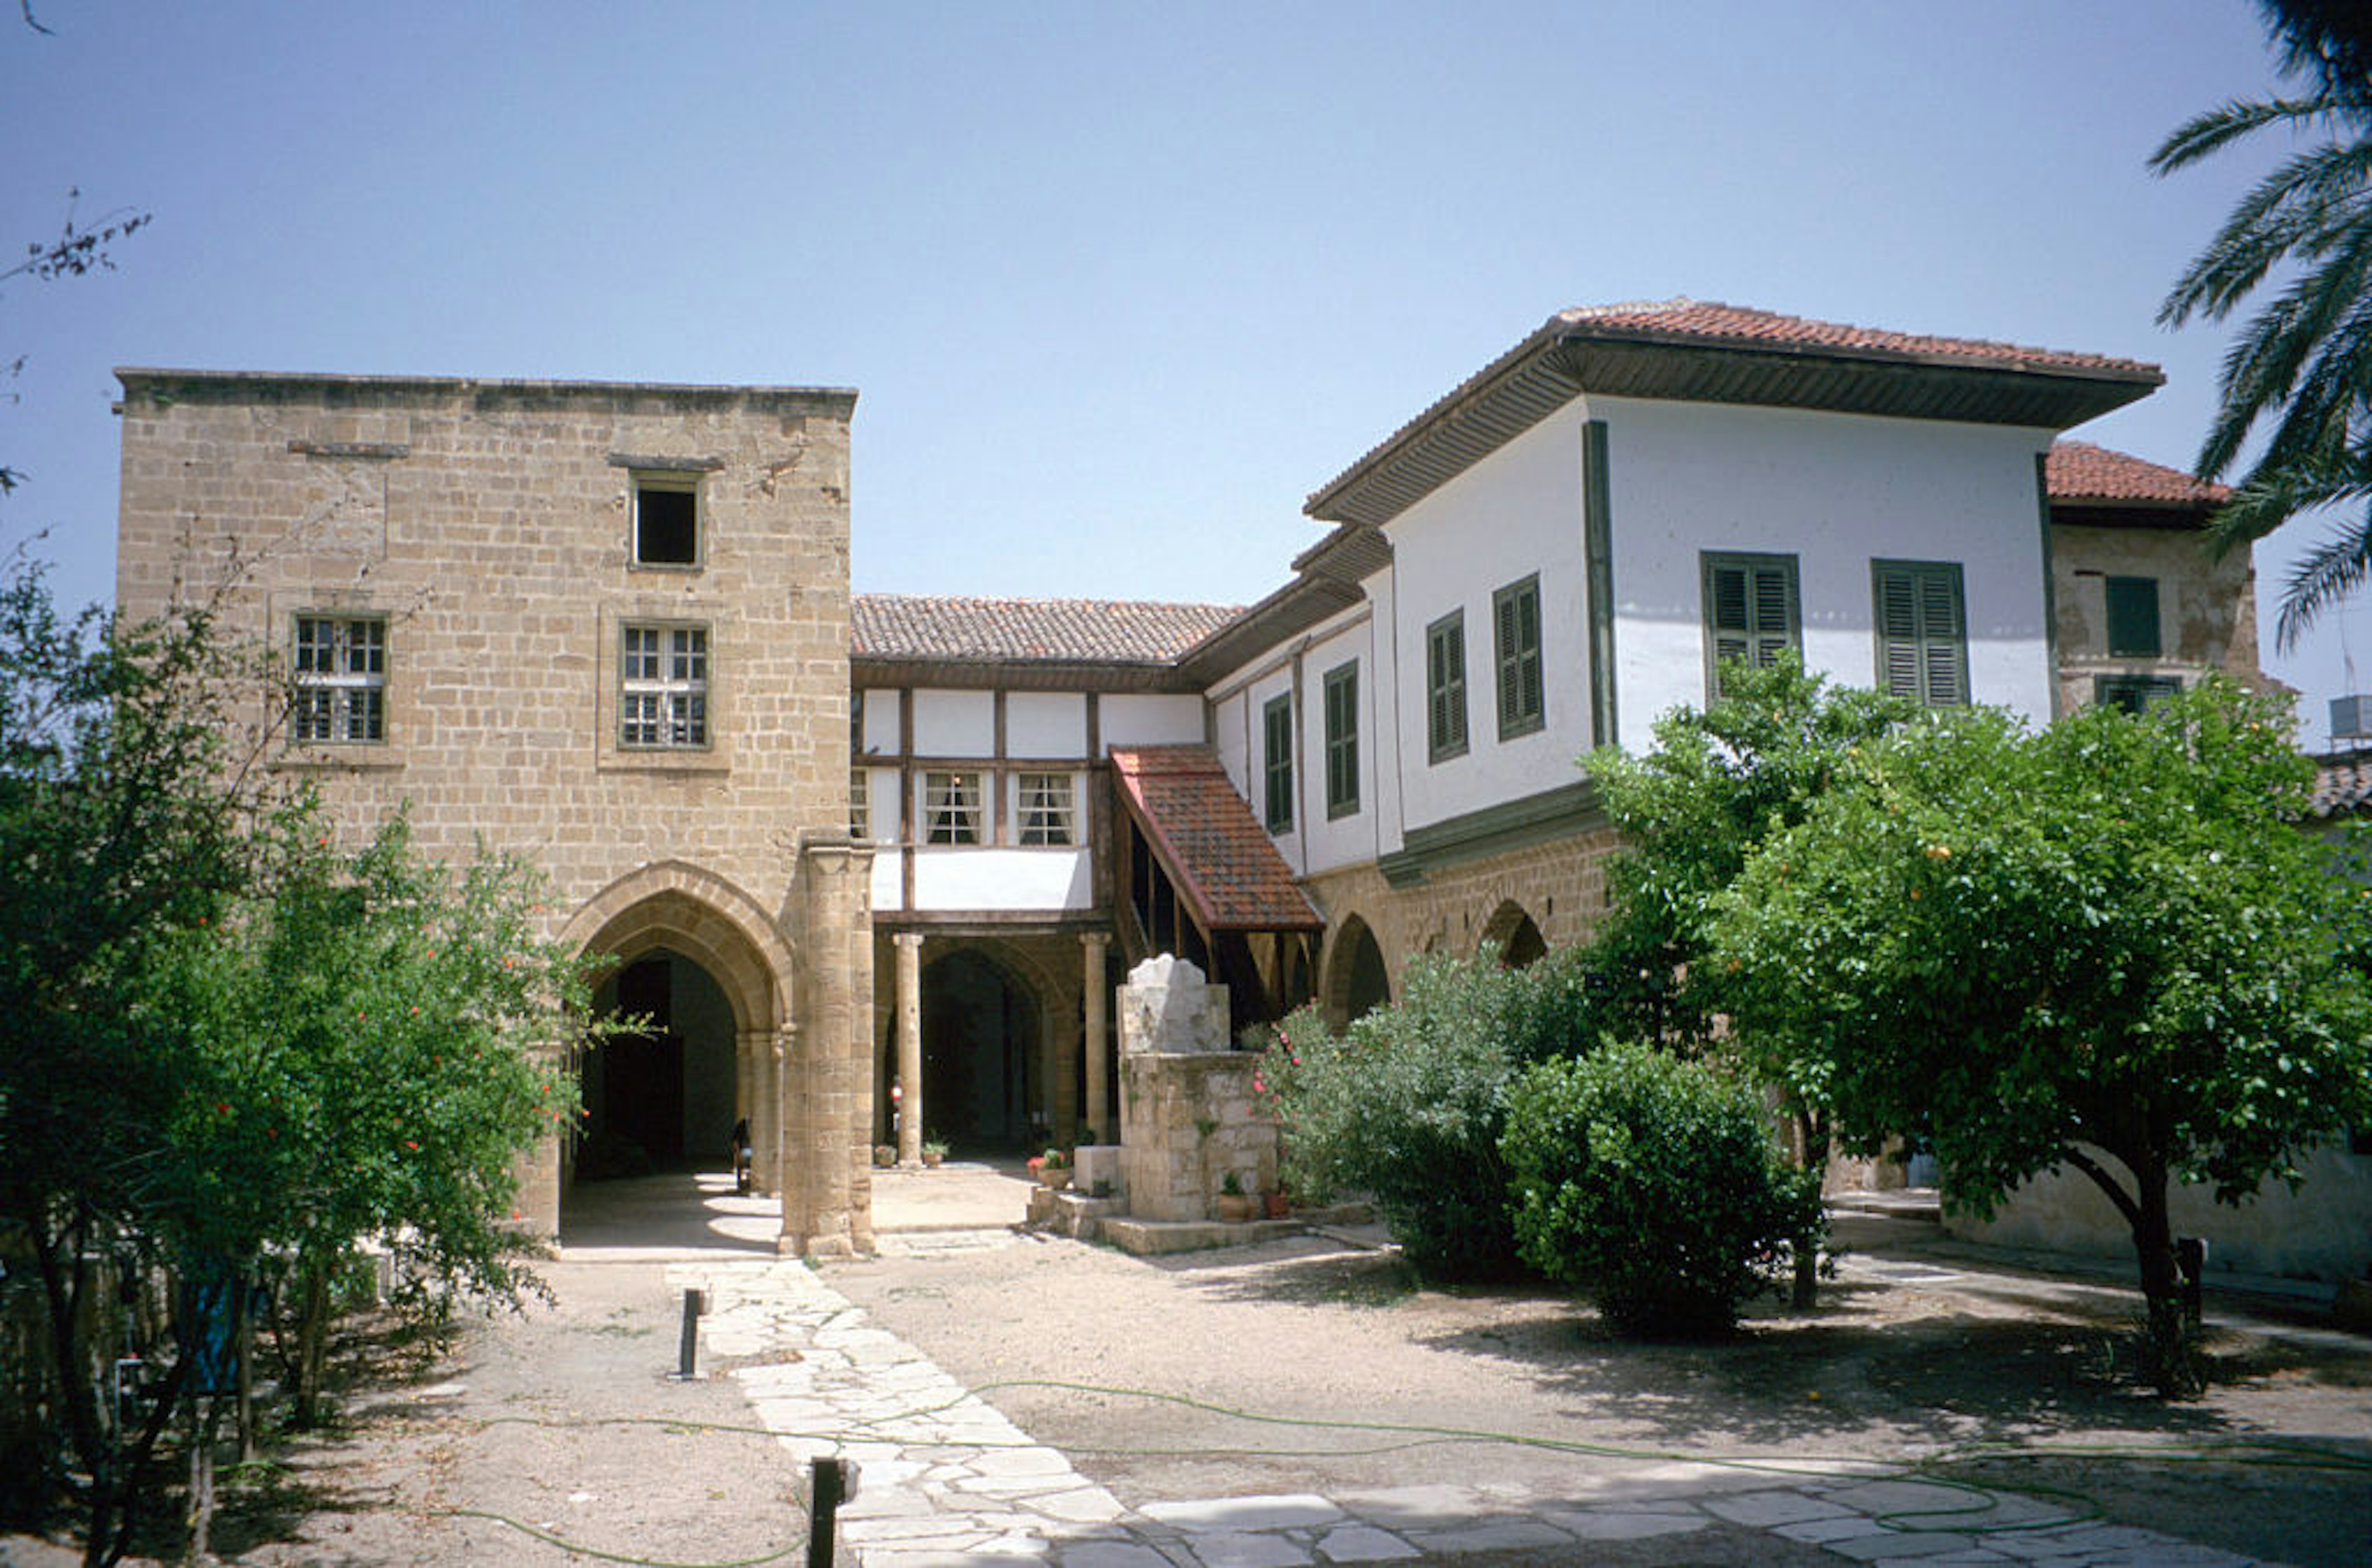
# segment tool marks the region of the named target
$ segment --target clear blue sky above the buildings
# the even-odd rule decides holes
[[[69,600],[114,365],[856,387],[856,586],[908,593],[1252,600],[1309,491],[1570,304],[2147,358],[2076,434],[2187,465],[2227,330],[2156,306],[2277,152],[2144,171],[2272,85],[2244,0],[36,14],[0,235],[154,213],[0,285],[0,538]],[[2320,726],[2372,607],[2268,664]]]

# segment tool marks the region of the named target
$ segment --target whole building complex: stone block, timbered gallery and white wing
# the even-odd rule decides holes
[[[1112,987],[1343,1022],[1589,935],[1577,759],[1729,655],[2035,719],[2256,671],[2218,498],[2057,444],[2159,370],[1734,306],[1563,311],[1321,486],[1257,605],[859,595],[852,394],[123,372],[121,586],[242,550],[275,766],[546,863],[655,1039],[593,1136],[866,1248],[868,1146],[1117,1124]],[[2154,624],[2151,624],[2154,622]],[[541,1172],[538,1217],[567,1160]]]

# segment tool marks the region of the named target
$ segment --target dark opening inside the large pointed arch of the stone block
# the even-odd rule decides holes
[[[733,1003],[697,961],[657,946],[612,970],[595,1015],[643,1018],[584,1056],[576,1179],[662,1169],[731,1169],[735,1089]]]

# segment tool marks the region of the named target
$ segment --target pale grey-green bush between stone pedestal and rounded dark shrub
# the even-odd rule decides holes
[[[1366,1193],[1428,1279],[1516,1274],[1499,1132],[1535,1060],[1594,1044],[1580,973],[1418,958],[1399,1003],[1333,1034],[1312,1008],[1279,1025],[1255,1084],[1283,1127],[1293,1191]]]

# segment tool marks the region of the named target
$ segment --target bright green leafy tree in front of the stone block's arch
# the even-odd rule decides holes
[[[308,1421],[332,1286],[365,1241],[441,1290],[531,1283],[536,1245],[505,1222],[519,1160],[574,1115],[560,1044],[602,1025],[517,859],[425,861],[403,816],[342,854],[299,809],[259,885],[178,935],[140,1018],[183,1063],[161,1219],[185,1255],[282,1288]]]

